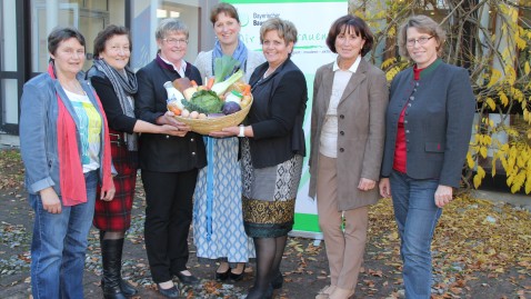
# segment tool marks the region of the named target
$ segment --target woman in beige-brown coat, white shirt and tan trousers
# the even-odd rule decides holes
[[[362,58],[372,43],[362,19],[339,18],[327,38],[338,58],[319,68],[313,82],[310,197],[317,195],[331,278],[318,299],[353,296],[368,206],[379,199],[388,87],[384,73]]]

